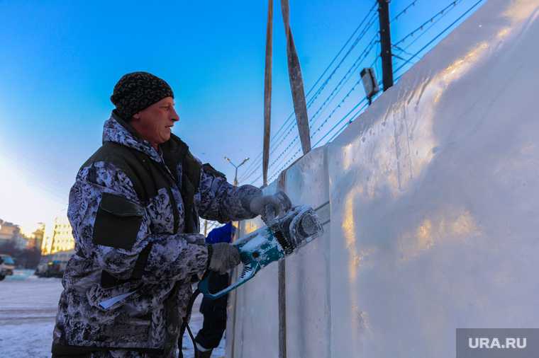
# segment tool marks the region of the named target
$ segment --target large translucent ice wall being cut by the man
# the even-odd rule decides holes
[[[287,357],[455,357],[455,328],[537,325],[538,11],[490,0],[284,174],[331,220],[286,260]],[[227,357],[279,357],[277,287],[274,264],[235,293]]]

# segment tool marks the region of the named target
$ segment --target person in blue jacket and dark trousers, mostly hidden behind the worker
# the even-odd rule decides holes
[[[229,222],[224,226],[210,231],[208,237],[206,237],[206,244],[230,243],[234,233],[235,226],[233,226],[232,222]],[[223,275],[215,273],[214,275],[211,275],[210,278],[210,291],[221,291],[221,289],[228,286],[229,282],[230,277],[228,276],[228,273]],[[221,342],[221,338],[223,337],[226,328],[227,299],[228,294],[216,300],[206,299],[206,297],[202,299],[200,313],[204,316],[204,323],[202,323],[202,328],[195,337],[197,348],[195,358],[211,357],[212,350],[219,345],[219,342]]]

